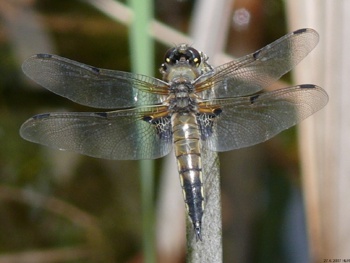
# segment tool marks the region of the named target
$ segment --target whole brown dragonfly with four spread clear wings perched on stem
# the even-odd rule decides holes
[[[203,52],[180,44],[166,52],[162,80],[37,54],[22,65],[29,78],[100,110],[38,114],[21,126],[20,135],[112,160],[156,159],[174,149],[188,215],[202,240],[202,147],[224,152],[261,143],[322,109],[328,95],[313,84],[263,90],[306,57],[318,39],[315,30],[299,29],[215,68]]]

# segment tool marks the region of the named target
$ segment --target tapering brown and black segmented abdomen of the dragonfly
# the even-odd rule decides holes
[[[174,113],[172,128],[174,151],[186,208],[192,220],[196,237],[201,239],[204,197],[200,131],[196,116],[192,113]]]

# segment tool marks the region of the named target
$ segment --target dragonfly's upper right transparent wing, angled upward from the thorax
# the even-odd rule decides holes
[[[318,43],[312,29],[300,29],[238,60],[223,64],[196,85],[203,99],[247,96],[290,71]]]

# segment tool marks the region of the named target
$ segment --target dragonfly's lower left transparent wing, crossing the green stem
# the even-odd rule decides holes
[[[35,143],[92,157],[155,159],[170,152],[171,128],[166,120],[161,130],[145,121],[148,110],[39,114],[22,125],[20,134]]]

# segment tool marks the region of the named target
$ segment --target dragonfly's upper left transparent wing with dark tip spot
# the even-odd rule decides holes
[[[99,69],[56,55],[32,56],[24,61],[22,69],[48,90],[94,108],[158,104],[168,93],[167,84],[156,78]]]

